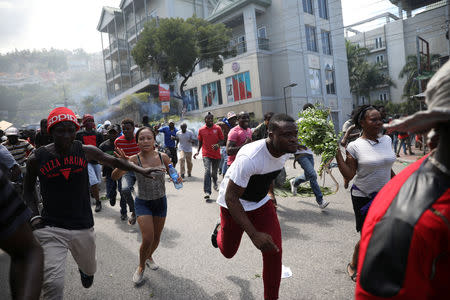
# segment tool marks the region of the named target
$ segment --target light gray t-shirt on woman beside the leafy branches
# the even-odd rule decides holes
[[[378,141],[360,137],[347,146],[347,151],[358,161],[353,183],[362,192],[353,190],[354,196],[367,197],[378,192],[391,179],[391,168],[396,160],[391,138],[383,135]]]

